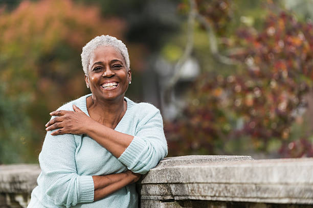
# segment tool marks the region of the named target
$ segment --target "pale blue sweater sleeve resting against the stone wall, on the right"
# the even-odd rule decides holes
[[[129,146],[118,158],[129,170],[145,174],[167,155],[167,142],[160,111],[153,107],[138,125]]]

